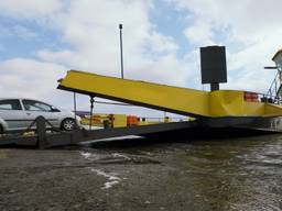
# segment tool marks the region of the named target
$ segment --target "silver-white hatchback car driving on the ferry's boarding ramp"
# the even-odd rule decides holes
[[[73,112],[63,111],[45,102],[31,99],[0,99],[0,133],[25,130],[40,115],[64,131],[80,126],[79,116],[75,118]]]

